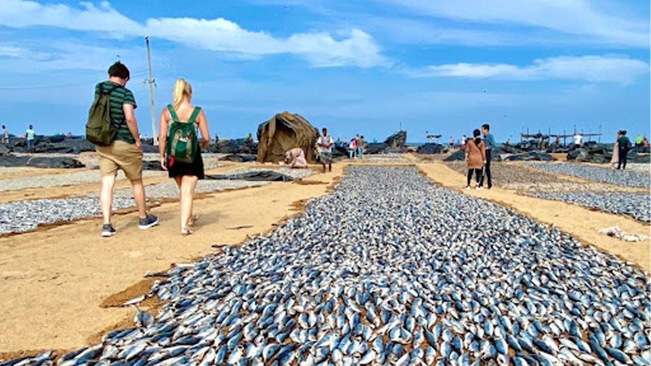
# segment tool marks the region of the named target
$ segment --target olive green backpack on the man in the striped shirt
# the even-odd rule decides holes
[[[118,130],[111,123],[110,96],[119,87],[120,85],[115,85],[109,91],[105,91],[104,83],[100,84],[100,92],[90,106],[86,123],[86,139],[95,145],[111,145]]]

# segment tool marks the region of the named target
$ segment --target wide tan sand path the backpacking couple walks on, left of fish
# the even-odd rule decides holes
[[[148,270],[164,271],[214,252],[212,245],[238,244],[247,234],[273,229],[299,210],[296,203],[327,193],[342,167],[334,164],[332,173],[303,182],[213,193],[195,203],[201,219],[187,237],[179,234],[178,204],[165,203],[154,208],[161,225],[146,231],[137,229],[132,213],[115,217],[113,238],[100,238],[101,219],[0,238],[0,313],[10,315],[0,318],[0,358],[3,352],[76,349],[107,329],[129,326],[133,309],[100,305],[145,293]],[[229,229],[241,225],[252,227]]]

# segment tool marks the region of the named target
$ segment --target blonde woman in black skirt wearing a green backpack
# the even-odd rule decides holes
[[[163,108],[159,118],[158,151],[163,169],[178,185],[181,234],[189,235],[197,219],[192,214],[195,187],[204,178],[201,150],[210,143],[210,132],[204,111],[190,103],[192,87],[186,80],[176,80],[172,98],[172,104]],[[201,143],[197,130],[201,131]]]

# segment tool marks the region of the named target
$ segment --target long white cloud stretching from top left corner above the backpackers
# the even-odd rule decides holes
[[[386,64],[372,36],[352,29],[342,39],[329,33],[296,33],[277,38],[264,31],[249,31],[224,18],[150,18],[133,21],[104,1],[99,7],[81,3],[42,5],[35,1],[0,0],[0,25],[7,27],[50,26],[77,31],[100,31],[115,36],[152,36],[244,58],[289,53],[307,59],[313,66],[359,66]]]

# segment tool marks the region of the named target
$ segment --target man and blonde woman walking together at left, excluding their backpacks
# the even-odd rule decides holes
[[[129,69],[119,61],[108,70],[109,79],[98,83],[95,96],[109,92],[110,120],[117,132],[109,145],[96,145],[102,176],[100,205],[102,206],[102,236],[113,236],[116,230],[111,224],[113,189],[118,169],[122,169],[131,181],[133,199],[139,213],[139,229],[148,229],[158,224],[158,217],[146,212],[145,188],[143,186],[143,150],[138,132],[138,124],[133,110],[137,107],[133,93],[126,88],[130,78]],[[178,185],[180,195],[180,231],[191,234],[191,227],[197,220],[192,214],[193,197],[197,180],[204,178],[201,150],[208,145],[210,132],[206,115],[200,107],[191,104],[192,87],[184,79],[177,79],[172,92],[172,104],[163,108],[159,117],[159,155],[163,169]],[[195,147],[190,162],[174,160],[170,156],[168,132],[171,124],[192,124],[194,130],[201,132],[201,140],[195,134],[189,146]]]

